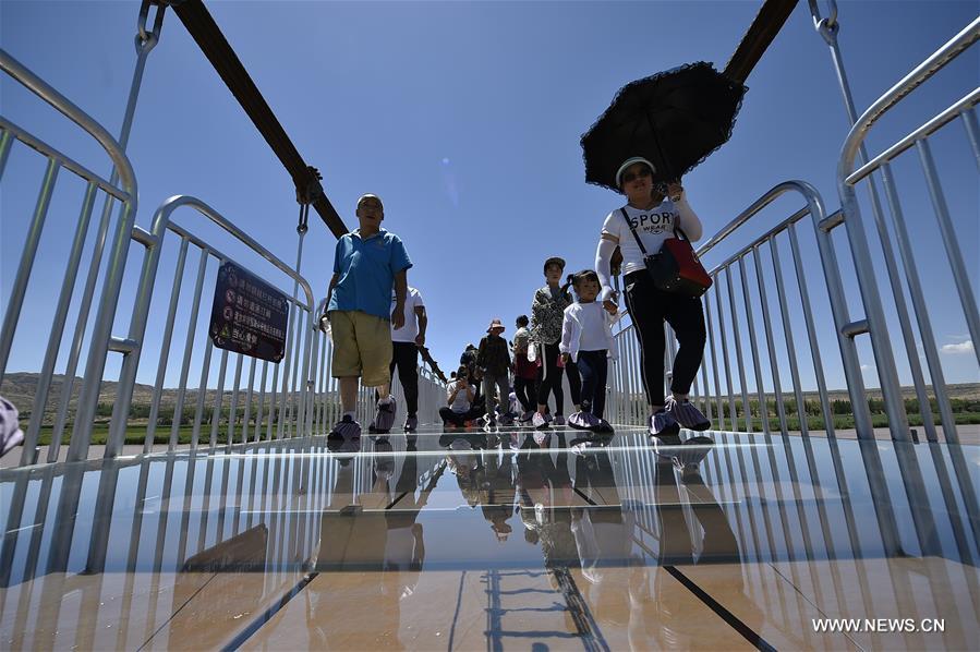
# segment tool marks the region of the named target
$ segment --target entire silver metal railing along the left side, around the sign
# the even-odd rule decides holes
[[[154,34],[157,34],[159,24]],[[141,43],[144,46],[137,61],[136,79],[130,95],[130,108],[124,120],[124,135],[129,133],[129,128],[132,123],[132,109],[135,105],[138,77],[142,76],[145,55],[152,48],[152,45],[147,47],[145,44],[155,44],[156,41],[155,37],[150,37],[149,40],[137,39],[137,50],[140,50]],[[207,444],[214,448],[219,443],[244,445],[250,442],[310,437],[328,432],[332,423],[340,419],[339,388],[336,379],[330,377],[332,345],[316,328],[316,319],[323,305],[320,303],[319,306],[315,306],[310,283],[299,274],[298,268],[290,267],[280,261],[231,220],[222,217],[207,204],[194,197],[176,196],[165,202],[156,212],[149,231],[135,227],[136,178],[122,150],[122,145],[113,141],[108,132],[94,119],[2,50],[0,50],[0,69],[95,137],[109,154],[118,170],[118,177],[121,179],[121,183],[117,184],[117,172],[113,172],[112,178],[107,181],[40,138],[29,134],[9,120],[0,118],[0,180],[2,180],[4,171],[9,172],[7,164],[15,142],[20,142],[36,150],[46,160],[45,174],[40,182],[39,196],[35,205],[33,219],[25,237],[16,279],[4,310],[3,328],[0,331],[0,384],[2,384],[3,375],[7,372],[11,348],[13,347],[17,329],[23,327],[27,321],[21,315],[22,307],[28,293],[28,281],[37,265],[37,252],[41,236],[46,231],[46,221],[58,173],[62,169],[69,170],[82,178],[87,184],[81,216],[72,239],[71,252],[64,262],[61,291],[53,318],[50,322],[51,328],[48,335],[47,350],[40,374],[37,377],[29,419],[27,419],[26,437],[21,452],[20,466],[29,466],[39,461],[40,446],[38,443],[55,381],[56,363],[59,354],[64,353],[62,349],[65,347],[63,339],[70,314],[70,304],[73,297],[77,293],[75,286],[80,278],[83,262],[86,259],[86,240],[92,238],[89,233],[90,218],[98,194],[105,194],[107,201],[99,230],[95,237],[94,249],[88,254],[89,267],[87,270],[82,271],[86,278],[86,283],[75,317],[74,336],[68,351],[68,362],[64,367],[61,395],[57,413],[53,416],[51,443],[47,449],[46,460],[55,462],[60,457],[64,457],[70,461],[80,461],[88,458],[89,446],[95,432],[94,423],[97,411],[100,409],[99,394],[101,384],[104,381],[109,379],[105,377],[105,372],[110,352],[121,353],[122,362],[106,439],[105,456],[111,458],[121,455],[126,442],[126,434],[130,433],[132,435],[134,430],[140,430],[141,426],[133,421],[131,414],[133,394],[136,387],[141,360],[144,358],[144,353],[150,354],[149,351],[146,351],[148,341],[146,331],[165,243],[171,241],[174,236],[179,239],[179,246],[176,250],[173,247],[167,250],[176,256],[167,317],[162,322],[160,338],[149,338],[154,345],[159,343],[159,349],[154,351],[156,355],[153,357],[157,361],[157,367],[149,413],[146,419],[145,432],[141,437],[143,451],[150,452],[155,450],[154,444],[158,428],[161,426],[169,427],[170,431],[169,436],[162,437],[161,444],[165,444],[168,450],[173,450],[180,445],[184,406],[190,401],[193,401],[195,406],[193,420],[189,423],[191,449],[197,448],[202,437],[205,437]],[[121,203],[119,215],[114,221],[111,220],[113,201]],[[232,353],[233,360],[231,362],[234,362],[234,371],[230,389],[226,389],[226,381],[229,379],[231,374],[229,352],[221,350],[220,361],[216,370],[217,381],[213,384],[210,378],[214,377],[211,375],[214,345],[210,338],[207,337],[207,327],[198,329],[197,323],[209,263],[211,259],[226,262],[232,261],[232,258],[214,244],[206,242],[192,231],[173,222],[170,219],[171,214],[180,207],[195,209],[199,215],[208,218],[211,224],[217,225],[230,234],[231,241],[222,242],[222,246],[232,245],[241,249],[243,245],[246,250],[257,253],[265,261],[269,262],[294,283],[293,294],[289,300],[291,316],[282,361],[271,363],[271,369],[269,369],[270,363],[263,361],[259,369],[256,359],[253,358],[249,362],[243,354]],[[59,234],[51,232],[51,229],[57,230],[57,227],[61,225],[47,226],[47,237],[56,239]],[[106,253],[106,241],[110,229],[113,240],[108,252],[108,262],[102,265],[102,256]],[[168,233],[170,234],[169,238]],[[128,335],[126,337],[112,337],[111,328],[116,318],[117,306],[121,303],[121,286],[126,257],[130,245],[133,242],[146,247],[146,254],[138,287],[135,291]],[[302,236],[300,242],[302,245]],[[182,294],[181,289],[184,286],[189,253],[192,254],[190,252],[191,249],[198,251],[199,255],[196,258],[196,275],[194,276],[192,292],[189,293],[192,295],[189,302],[186,300],[187,293]],[[299,262],[298,256],[298,265]],[[45,271],[45,276],[52,276],[52,270],[48,264],[46,264]],[[96,285],[100,274],[105,280],[101,292],[97,294]],[[300,288],[302,288],[303,292],[298,298],[297,293]],[[283,291],[283,295],[286,294]],[[88,318],[88,315],[90,312],[89,307],[94,303],[98,305],[98,312],[93,322]],[[185,310],[181,310],[181,307]],[[315,310],[315,307],[318,310]],[[187,317],[187,322],[183,346],[172,347],[177,321],[184,316]],[[206,318],[207,315],[205,315]],[[36,329],[36,326],[34,328]],[[201,355],[202,359],[198,361],[198,367],[192,370],[195,339],[202,336],[206,338],[203,355]],[[83,354],[83,340],[86,337],[90,338],[87,352],[88,362],[84,378],[81,382],[81,396],[77,407],[73,412],[71,403],[74,374]],[[198,348],[197,350],[201,349]],[[176,391],[166,391],[165,381],[167,378],[168,362],[173,359],[182,360],[180,379],[177,382]],[[420,423],[423,425],[437,423],[438,408],[445,402],[445,388],[427,370],[420,369],[419,373]],[[245,374],[247,374],[247,379],[243,381]],[[270,374],[271,378],[269,378]],[[197,388],[189,389],[189,383],[193,383],[195,377],[199,378]],[[226,394],[230,396],[226,397]],[[402,394],[397,379],[394,386],[394,394],[397,397],[400,397]],[[23,410],[23,405],[20,407]],[[169,416],[168,413],[171,409],[172,416]],[[373,390],[363,389],[359,394],[358,415],[362,423],[365,424],[373,418]],[[69,449],[66,455],[64,455],[61,451],[61,442],[68,425],[72,427],[72,435]]]

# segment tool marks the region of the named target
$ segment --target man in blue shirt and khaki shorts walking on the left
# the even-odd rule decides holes
[[[337,241],[334,277],[327,290],[327,312],[334,339],[332,376],[340,385],[343,418],[327,436],[328,446],[358,450],[361,424],[355,419],[358,378],[376,387],[375,426],[387,433],[395,423],[388,365],[391,362],[391,328],[404,325],[404,299],[411,259],[401,239],[380,228],[385,209],[377,195],[358,200],[359,228]],[[391,306],[391,288],[395,306]]]

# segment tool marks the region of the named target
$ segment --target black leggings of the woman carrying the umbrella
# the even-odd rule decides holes
[[[689,394],[707,339],[701,299],[672,294],[656,289],[645,269],[626,275],[626,306],[633,319],[633,331],[640,341],[640,366],[643,389],[651,405],[664,403],[664,322],[677,337],[674,377],[670,391]]]

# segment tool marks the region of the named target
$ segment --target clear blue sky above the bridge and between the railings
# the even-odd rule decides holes
[[[507,334],[512,333],[513,318],[529,312],[533,291],[543,282],[544,258],[561,255],[571,270],[591,266],[603,218],[621,201],[583,182],[579,136],[615,92],[631,80],[686,62],[706,60],[723,68],[760,4],[216,1],[208,8],[301,155],[324,173],[326,192],[347,224],[355,225],[360,194],[375,192],[385,201],[385,226],[402,237],[415,263],[410,283],[428,306],[428,343],[448,371],[491,318],[501,317]],[[839,7],[840,46],[860,111],[959,32],[978,5],[932,0],[844,1]],[[138,2],[2,0],[0,43],[117,133],[135,58],[137,11]],[[875,128],[872,148],[918,126],[978,79],[976,52],[960,58]],[[813,183],[831,209],[839,204],[834,174],[848,124],[827,48],[813,29],[806,1],[748,86],[731,141],[685,179],[707,234],[788,179]],[[5,117],[108,176],[109,164],[98,147],[64,120],[7,77],[0,93]],[[961,126],[947,132],[937,138],[936,156],[976,291],[976,164]],[[196,195],[281,258],[294,259],[298,207],[288,174],[169,11],[147,64],[129,155],[140,183],[138,225],[148,228],[166,197]],[[968,348],[968,336],[949,275],[944,265],[931,263],[945,256],[918,161],[914,154],[906,158],[895,171],[907,189],[906,215],[934,310],[933,327],[940,345],[949,345],[943,354],[946,377],[976,382],[972,354],[957,353]],[[8,167],[0,197],[4,303],[40,179],[40,168],[26,152],[15,152]],[[25,307],[41,326],[17,333],[10,371],[40,365],[46,315],[60,285],[60,275],[46,278],[45,270],[68,250],[81,196],[81,183],[64,174]],[[758,236],[800,205],[796,197],[778,202],[733,242]],[[870,214],[866,217],[870,220]],[[219,237],[206,226],[198,228],[201,220],[190,214],[179,215],[178,221]],[[311,227],[302,271],[322,297],[335,240],[314,216]],[[801,236],[808,265],[815,269],[808,222]],[[869,238],[878,252],[870,227]],[[256,271],[291,289],[254,257],[230,245],[222,249],[255,262]],[[717,253],[731,251],[726,246]],[[781,253],[788,266],[785,241]],[[126,288],[138,270],[140,247],[131,255]],[[850,278],[848,256],[843,250],[838,255],[845,278]],[[165,263],[167,290],[170,270],[172,263]],[[880,278],[881,270],[879,265]],[[819,276],[811,277],[811,292],[816,293],[819,282]],[[209,282],[205,289],[205,312],[211,287]],[[860,316],[857,291],[851,294],[854,314]],[[155,297],[158,319],[166,300],[166,292]],[[129,303],[121,305],[118,335],[129,319]],[[793,312],[806,360],[799,310]],[[822,305],[818,322],[828,383],[843,387],[832,322]],[[159,328],[152,327],[149,337],[158,338]],[[871,363],[870,347],[862,345],[861,352],[862,362]],[[59,372],[64,359],[62,354]],[[152,382],[155,364],[155,355],[144,359],[141,382]],[[812,386],[809,365],[803,376]],[[873,375],[868,379],[875,383]],[[909,379],[904,366],[902,379]],[[171,372],[167,384],[176,382]]]

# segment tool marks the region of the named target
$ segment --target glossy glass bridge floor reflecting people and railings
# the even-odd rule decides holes
[[[423,432],[365,437],[358,454],[316,440],[0,471],[0,645],[980,640],[976,447],[534,434]],[[824,618],[875,621],[818,631]]]

